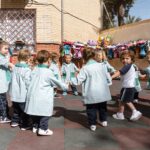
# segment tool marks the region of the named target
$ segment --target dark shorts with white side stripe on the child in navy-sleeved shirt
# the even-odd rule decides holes
[[[122,102],[132,102],[135,92],[135,88],[122,88],[120,91],[120,100]]]

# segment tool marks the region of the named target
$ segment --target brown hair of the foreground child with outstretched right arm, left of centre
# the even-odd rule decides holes
[[[41,50],[37,53],[36,60],[39,64],[47,62],[51,58],[50,53],[47,50]]]

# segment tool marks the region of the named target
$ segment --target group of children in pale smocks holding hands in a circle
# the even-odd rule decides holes
[[[71,55],[64,56],[59,69],[59,56],[46,50],[37,53],[35,64],[30,64],[31,54],[20,50],[18,63],[9,62],[9,45],[0,43],[0,123],[11,122],[11,127],[20,126],[21,130],[31,128],[38,135],[52,135],[48,128],[49,118],[53,115],[54,96],[57,87],[67,95],[69,86],[73,94],[78,95],[76,86],[82,84],[83,103],[86,107],[89,127],[96,130],[97,111],[102,126],[107,126],[107,101],[111,100],[109,86],[112,79],[122,76],[122,89],[119,110],[113,115],[123,120],[124,107],[127,104],[132,110],[130,120],[138,120],[142,113],[137,111],[133,102],[135,96],[136,69],[133,65],[134,55],[125,51],[121,55],[124,67],[116,71],[107,61],[103,50],[83,50],[83,67],[79,70],[71,61]],[[32,66],[32,67],[31,67]],[[149,73],[147,68],[145,72]],[[7,94],[13,104],[11,120],[8,118]],[[32,120],[32,124],[30,124]]]

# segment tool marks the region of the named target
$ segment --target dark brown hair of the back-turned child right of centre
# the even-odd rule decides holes
[[[95,52],[92,48],[83,49],[83,59],[87,62],[89,59],[94,58]]]

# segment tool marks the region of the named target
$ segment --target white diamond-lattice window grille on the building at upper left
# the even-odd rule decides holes
[[[0,9],[0,37],[15,49],[16,41],[35,50],[36,11],[34,9]]]

